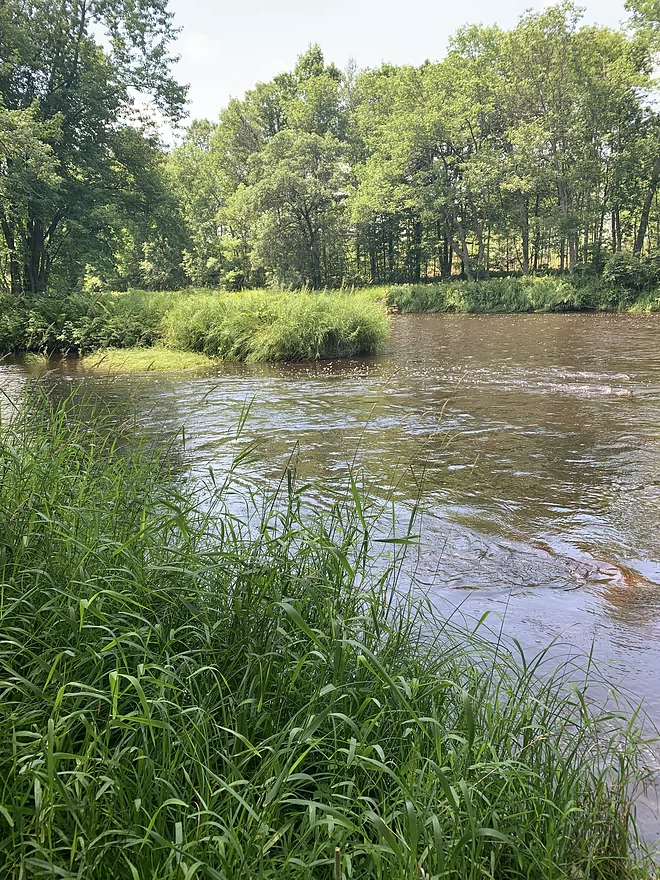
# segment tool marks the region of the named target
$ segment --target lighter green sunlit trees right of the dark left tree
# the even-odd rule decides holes
[[[509,31],[466,27],[439,63],[357,76],[312,47],[217,125],[197,123],[171,161],[190,277],[573,277],[660,246],[657,39],[581,15],[561,3]]]

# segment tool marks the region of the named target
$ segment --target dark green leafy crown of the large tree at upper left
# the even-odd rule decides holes
[[[109,260],[122,227],[141,246],[167,216],[157,138],[128,118],[137,122],[138,95],[181,118],[171,18],[166,0],[4,0],[0,248],[15,296],[44,293],[53,268],[75,282],[90,257]],[[18,143],[9,157],[8,126]]]

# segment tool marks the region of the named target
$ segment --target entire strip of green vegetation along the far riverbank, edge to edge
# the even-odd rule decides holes
[[[528,277],[319,292],[130,290],[22,303],[5,297],[0,355],[73,353],[86,368],[124,372],[187,369],[213,360],[337,360],[377,353],[390,335],[388,311],[644,313],[660,311],[660,293]],[[95,352],[100,355],[85,358]]]

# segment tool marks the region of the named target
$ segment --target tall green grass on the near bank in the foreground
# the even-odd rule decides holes
[[[397,596],[354,487],[240,520],[176,449],[31,407],[0,439],[2,877],[650,876],[630,727]]]

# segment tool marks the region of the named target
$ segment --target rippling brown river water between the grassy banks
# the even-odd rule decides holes
[[[30,369],[0,362],[0,389]],[[593,650],[660,727],[660,315],[400,316],[376,358],[83,382],[158,433],[185,425],[200,472],[227,465],[251,401],[241,479],[293,455],[322,494],[354,464],[402,514],[421,486],[420,588],[530,651]]]

